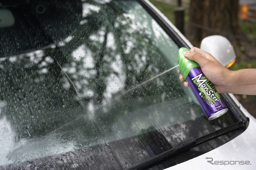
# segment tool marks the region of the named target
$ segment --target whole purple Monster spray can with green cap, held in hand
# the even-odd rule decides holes
[[[190,50],[182,47],[178,54],[178,68],[184,80],[188,82],[208,120],[211,121],[220,117],[228,111],[228,108],[214,85],[205,77],[198,63],[184,57],[184,51]]]

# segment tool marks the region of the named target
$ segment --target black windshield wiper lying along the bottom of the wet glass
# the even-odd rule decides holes
[[[238,123],[234,123],[233,125],[230,125],[225,128],[221,128],[219,130],[216,130],[215,132],[206,134],[206,135],[201,136],[196,139],[194,139],[193,137],[187,138],[185,140],[182,140],[181,142],[178,142],[170,150],[167,150],[161,154],[158,154],[152,158],[149,158],[149,159],[145,160],[144,162],[136,164],[135,166],[128,168],[128,170],[148,169],[153,166],[159,165],[161,162],[170,158],[171,156],[174,156],[177,153],[184,152],[198,144],[202,144],[203,142],[211,140],[212,138],[216,138],[218,136],[221,136],[223,134],[226,134],[228,132],[231,132],[233,130],[236,130],[236,129],[239,129],[239,128],[245,127],[245,126],[246,126],[245,123],[243,121],[240,121]]]

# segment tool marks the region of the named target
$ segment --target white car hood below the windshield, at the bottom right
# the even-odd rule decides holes
[[[234,95],[229,94],[242,112],[249,118],[248,128],[239,136],[226,144],[202,154],[186,162],[167,168],[166,170],[191,170],[198,169],[232,169],[255,170],[256,169],[256,119],[244,109]]]

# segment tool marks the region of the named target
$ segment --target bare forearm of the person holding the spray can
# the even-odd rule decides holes
[[[229,72],[224,93],[256,95],[256,69],[240,69]]]

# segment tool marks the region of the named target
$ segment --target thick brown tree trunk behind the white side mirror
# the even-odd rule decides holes
[[[200,47],[203,38],[211,35],[222,35],[234,46],[237,59],[245,59],[240,51],[245,37],[238,25],[238,0],[190,0],[189,22],[186,37],[190,42]],[[239,36],[239,37],[238,37]]]

